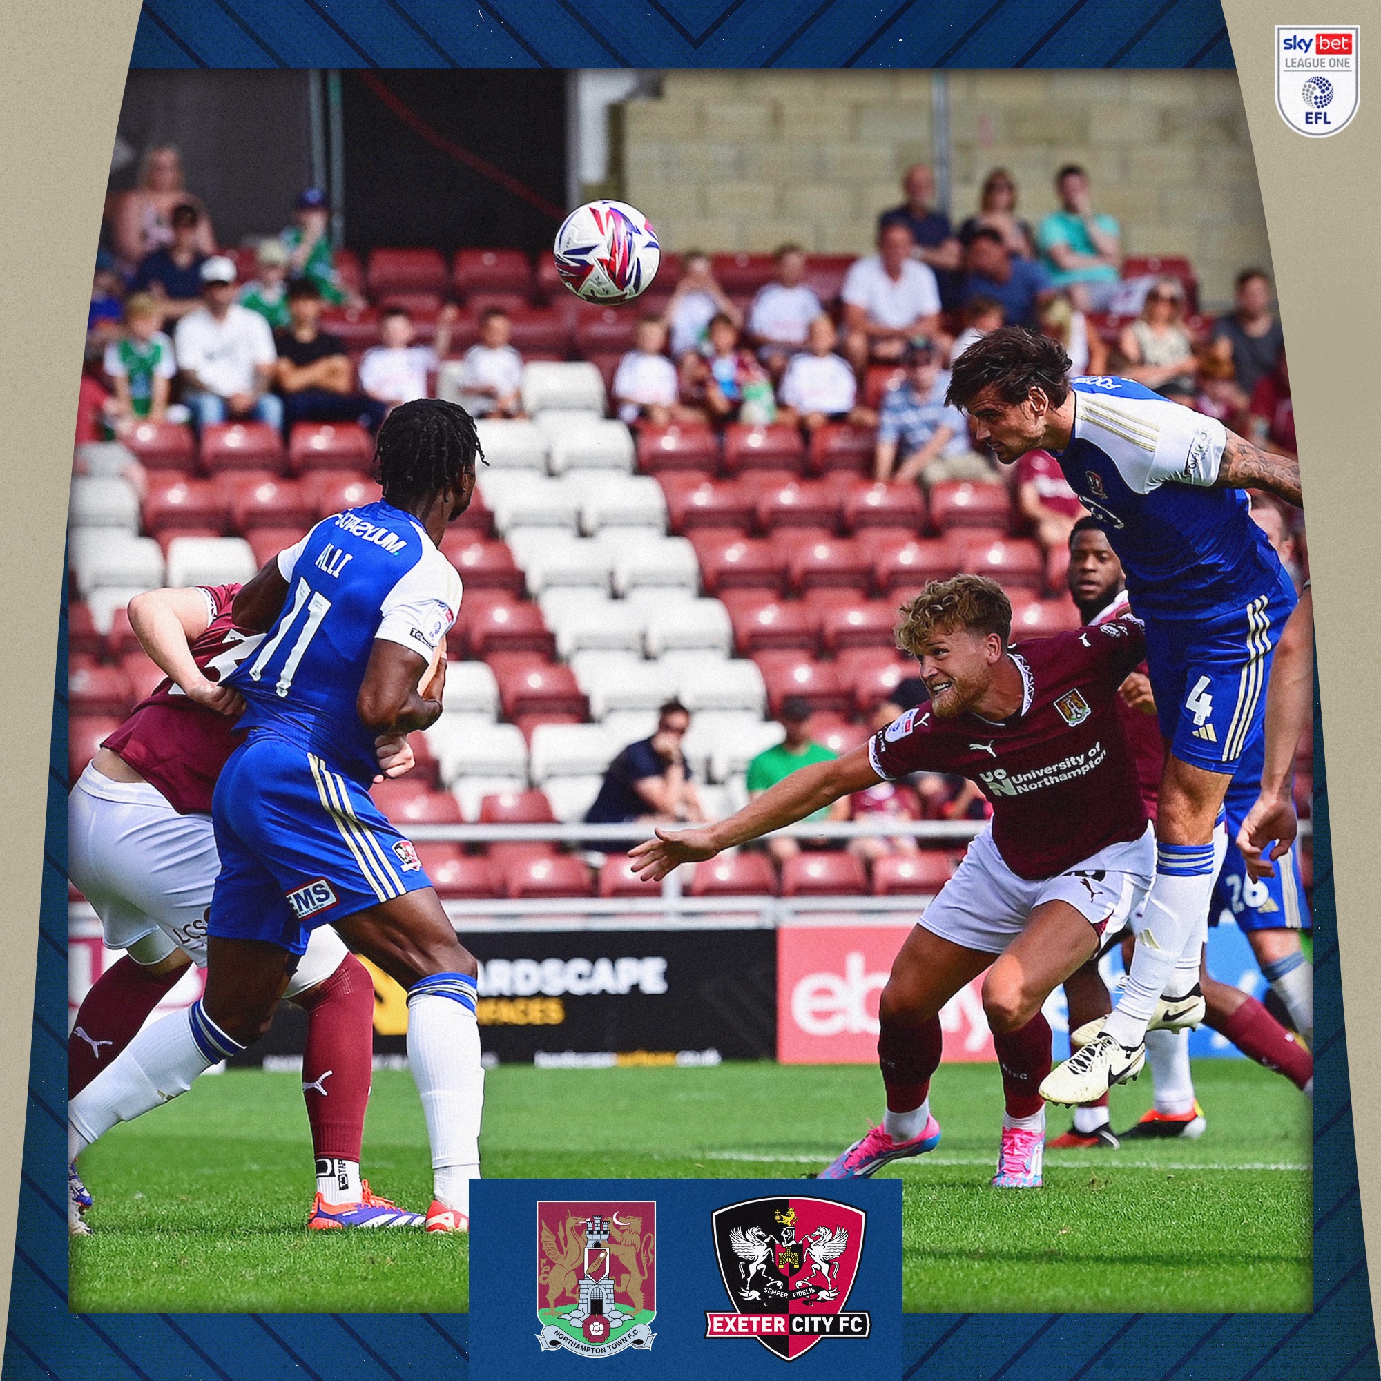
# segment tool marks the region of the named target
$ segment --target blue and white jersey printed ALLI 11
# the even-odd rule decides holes
[[[228,678],[244,696],[240,728],[311,749],[367,783],[374,732],[355,702],[374,641],[429,659],[460,610],[460,576],[416,518],[385,503],[323,519],[279,552],[278,568],[283,610]]]

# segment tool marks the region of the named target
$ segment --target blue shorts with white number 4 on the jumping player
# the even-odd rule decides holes
[[[1295,606],[1282,573],[1246,608],[1146,620],[1146,668],[1160,732],[1181,762],[1232,775],[1262,732],[1276,644]]]

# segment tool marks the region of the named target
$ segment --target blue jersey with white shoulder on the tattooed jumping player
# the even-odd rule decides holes
[[[1108,532],[1141,617],[1201,620],[1279,588],[1280,561],[1240,489],[1215,489],[1222,423],[1128,378],[1072,380],[1074,429],[1056,456]]]

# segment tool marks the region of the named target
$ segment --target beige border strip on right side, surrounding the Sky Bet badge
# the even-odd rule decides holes
[[[1381,1305],[1381,983],[1375,876],[1381,820],[1381,445],[1371,412],[1381,378],[1381,4],[1222,0],[1261,182],[1290,352],[1309,521],[1319,692],[1329,754],[1329,820],[1348,1023],[1352,1120],[1373,1317]],[[1276,110],[1275,26],[1358,23],[1360,106],[1326,139]],[[1204,189],[1213,195],[1211,188]]]

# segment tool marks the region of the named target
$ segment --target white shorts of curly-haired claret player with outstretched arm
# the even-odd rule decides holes
[[[1110,844],[1066,873],[1029,882],[1004,862],[985,824],[964,862],[925,907],[920,924],[965,949],[1001,954],[1043,902],[1068,902],[1099,935],[1127,924],[1150,891],[1156,873],[1156,831]]]

